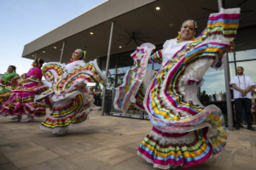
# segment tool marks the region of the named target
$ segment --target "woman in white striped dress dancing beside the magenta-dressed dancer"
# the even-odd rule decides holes
[[[96,59],[85,63],[85,52],[81,49],[76,49],[72,58],[67,65],[49,63],[44,66],[44,77],[53,87],[36,98],[38,103],[50,109],[50,116],[42,122],[41,128],[55,134],[66,134],[70,127],[87,122],[89,116],[100,109],[93,105],[94,99],[86,89],[87,82],[108,83]]]

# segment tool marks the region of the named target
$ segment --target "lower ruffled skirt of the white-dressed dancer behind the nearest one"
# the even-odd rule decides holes
[[[65,95],[49,95],[40,102],[50,109],[50,116],[42,122],[41,128],[54,132],[87,122],[90,115],[100,109],[93,105],[90,95],[79,90]]]

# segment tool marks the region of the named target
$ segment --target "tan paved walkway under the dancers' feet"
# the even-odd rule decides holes
[[[22,123],[0,116],[1,170],[150,170],[152,164],[137,156],[137,148],[151,123],[96,112],[90,121],[66,136],[39,128],[44,118]],[[245,128],[229,132],[227,147],[217,159],[189,170],[255,170],[256,133]]]

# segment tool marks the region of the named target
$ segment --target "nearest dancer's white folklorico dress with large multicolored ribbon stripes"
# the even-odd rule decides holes
[[[210,15],[207,28],[195,41],[168,40],[164,49],[153,55],[154,45],[144,43],[131,55],[136,66],[117,88],[114,106],[126,113],[134,105],[140,108],[137,103],[143,100],[153,129],[143,139],[137,154],[154,167],[198,165],[224,149],[224,116],[216,105],[201,105],[196,94],[207,69],[221,69],[222,58],[218,55],[236,37],[239,17],[240,8],[222,8],[220,13]],[[137,98],[148,59],[163,66],[146,93]]]

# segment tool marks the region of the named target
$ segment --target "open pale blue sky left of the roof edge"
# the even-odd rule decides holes
[[[32,59],[21,58],[24,46],[106,0],[0,0],[0,74],[15,65],[26,73]]]

